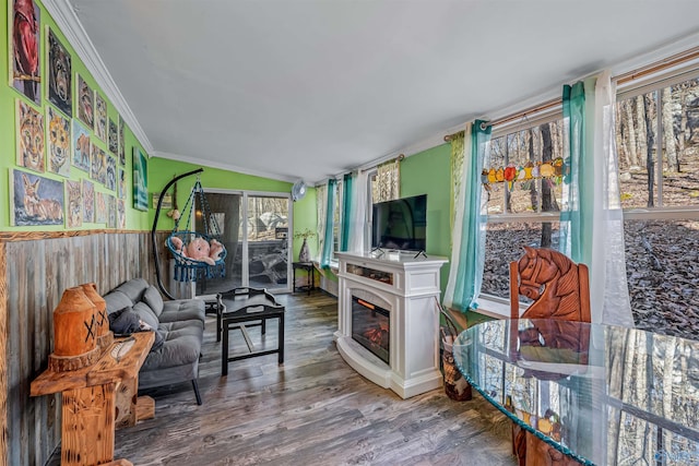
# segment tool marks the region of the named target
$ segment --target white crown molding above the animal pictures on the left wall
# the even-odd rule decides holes
[[[111,79],[111,74],[109,74],[107,67],[105,67],[105,63],[102,61],[92,40],[90,40],[73,7],[68,0],[43,0],[42,3],[83,61],[87,71],[92,73],[99,87],[102,87],[102,91],[106,94],[107,98],[109,98],[111,105],[119,111],[123,121],[129,126],[131,132],[133,132],[137,140],[139,140],[143,146],[143,150],[147,154],[152,154],[154,152],[153,145],[149,141],[143,128],[141,128],[141,124],[139,124],[135,115],[131,111],[129,104],[121,95],[119,87],[117,87],[117,84]]]

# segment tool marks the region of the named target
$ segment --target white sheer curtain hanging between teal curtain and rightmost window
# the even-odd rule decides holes
[[[594,180],[590,296],[592,321],[633,326],[626,278],[624,213],[615,131],[616,86],[608,71],[597,76],[594,95]],[[594,292],[594,290],[604,292]]]

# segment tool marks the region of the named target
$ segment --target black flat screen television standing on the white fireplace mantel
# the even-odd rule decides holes
[[[425,251],[427,194],[376,203],[371,218],[371,248]]]

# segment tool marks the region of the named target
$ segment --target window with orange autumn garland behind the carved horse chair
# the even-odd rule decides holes
[[[522,255],[522,246],[557,249],[562,202],[560,111],[518,127],[494,131],[483,164],[487,232],[481,292],[502,302],[510,296],[509,263]]]

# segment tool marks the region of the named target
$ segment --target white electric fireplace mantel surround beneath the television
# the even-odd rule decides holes
[[[399,252],[335,255],[340,260],[335,342],[344,360],[403,398],[441,386],[435,299],[439,300],[439,270],[447,258]],[[389,365],[352,338],[353,295],[375,298],[389,311]]]

